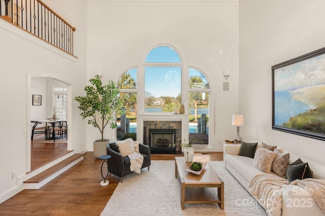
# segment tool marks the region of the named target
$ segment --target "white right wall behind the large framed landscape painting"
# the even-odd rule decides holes
[[[272,73],[275,64],[325,46],[323,0],[243,0],[239,7],[239,110],[241,136],[290,149],[324,162],[324,141],[272,129]]]

